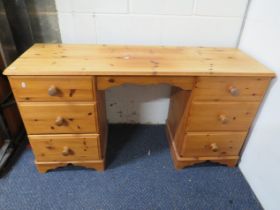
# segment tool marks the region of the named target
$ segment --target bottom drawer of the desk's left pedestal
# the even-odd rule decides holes
[[[29,135],[28,137],[37,161],[100,159],[97,134]]]

